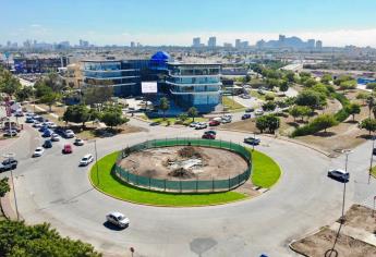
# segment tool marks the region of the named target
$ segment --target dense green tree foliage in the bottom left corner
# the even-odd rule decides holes
[[[61,237],[48,223],[25,225],[24,221],[0,221],[0,256],[99,257],[89,244]]]

